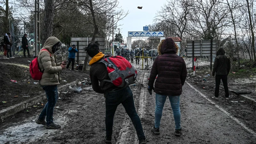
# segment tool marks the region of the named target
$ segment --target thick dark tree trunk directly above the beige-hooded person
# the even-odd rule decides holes
[[[46,39],[52,36],[53,27],[53,14],[54,14],[54,0],[44,0],[44,27],[42,36],[42,46]]]

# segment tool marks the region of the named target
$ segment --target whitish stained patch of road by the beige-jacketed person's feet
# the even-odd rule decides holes
[[[56,117],[54,122],[60,124],[61,127],[67,124],[69,119],[64,116],[53,116]],[[33,120],[36,120],[37,117],[29,119],[25,124],[12,126],[6,128],[3,132],[0,133],[0,143],[17,144],[17,143],[33,143],[33,141],[41,137],[51,137],[52,133],[61,131],[61,128],[58,130],[49,130],[46,129],[44,125],[36,124]]]

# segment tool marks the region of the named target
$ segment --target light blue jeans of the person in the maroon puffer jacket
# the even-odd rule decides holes
[[[161,95],[156,93],[156,110],[155,110],[155,128],[160,127],[160,122],[162,118],[162,112],[164,108],[164,103],[166,97],[169,97],[171,102],[174,122],[175,122],[175,129],[180,129],[180,96],[171,96],[171,95]]]

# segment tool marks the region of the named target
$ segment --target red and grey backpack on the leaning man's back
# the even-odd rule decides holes
[[[106,56],[107,57],[107,56]],[[108,70],[108,76],[111,80],[103,80],[111,82],[117,87],[127,87],[135,83],[137,71],[131,63],[122,56],[104,57],[103,62]]]

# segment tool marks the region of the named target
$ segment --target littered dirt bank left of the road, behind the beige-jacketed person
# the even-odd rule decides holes
[[[0,59],[0,110],[44,93],[39,82],[33,80],[29,73],[29,61],[34,58],[16,57],[10,60]],[[88,71],[87,71],[88,73]],[[76,79],[88,78],[82,71],[64,69],[60,72],[61,85]],[[11,82],[16,80],[17,83]],[[18,97],[14,97],[18,96]],[[6,101],[3,103],[2,101]]]

